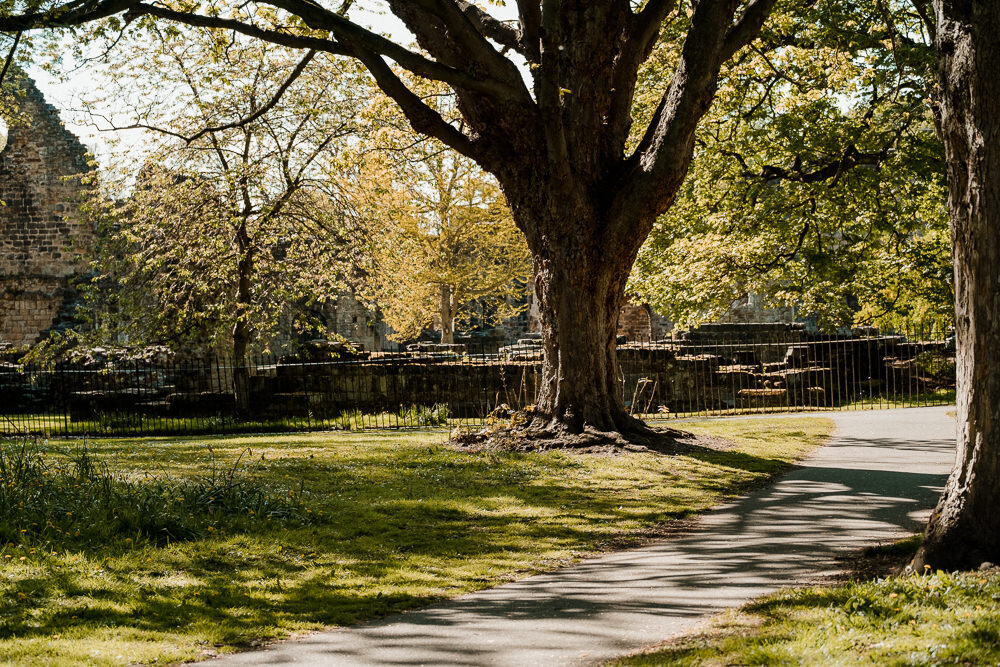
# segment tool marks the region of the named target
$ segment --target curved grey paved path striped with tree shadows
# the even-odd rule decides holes
[[[586,665],[919,529],[954,458],[947,408],[830,415],[832,442],[691,533],[220,665]],[[214,667],[214,663],[213,663]]]

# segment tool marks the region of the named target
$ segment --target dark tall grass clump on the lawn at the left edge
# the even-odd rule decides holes
[[[249,450],[194,478],[112,468],[84,444],[0,443],[0,544],[163,545],[261,521],[308,522],[304,489],[263,484]]]

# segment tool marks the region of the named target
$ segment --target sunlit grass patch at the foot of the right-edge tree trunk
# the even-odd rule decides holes
[[[905,563],[918,539],[889,549]],[[1000,570],[781,591],[716,616],[698,634],[610,664],[997,665]]]

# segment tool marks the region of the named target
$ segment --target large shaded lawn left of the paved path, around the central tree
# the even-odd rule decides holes
[[[493,586],[745,492],[832,423],[683,427],[736,447],[468,453],[442,431],[8,442],[0,663],[197,660]]]

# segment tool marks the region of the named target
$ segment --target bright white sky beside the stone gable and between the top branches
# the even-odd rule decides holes
[[[490,13],[498,18],[512,19],[516,17],[513,3],[508,7],[497,4],[495,0],[490,0],[488,4]],[[385,9],[385,3],[382,0],[362,0],[356,3],[352,8],[351,18],[376,32],[387,35],[400,44],[410,44],[413,41],[411,33]],[[81,96],[88,95],[101,84],[100,75],[95,70],[78,69],[65,81],[59,80],[38,67],[29,69],[29,73],[49,103],[59,110],[66,128],[77,135],[84,145],[97,156],[98,162],[109,156],[111,150],[109,140],[112,134],[119,134],[121,138],[117,150],[127,150],[130,154],[134,153],[137,159],[139,158],[144,145],[141,131],[101,132],[88,123],[86,115],[80,111],[82,107]],[[121,117],[121,109],[116,109],[114,106],[101,109],[101,111],[118,121],[124,120]],[[127,123],[119,122],[118,124]]]

